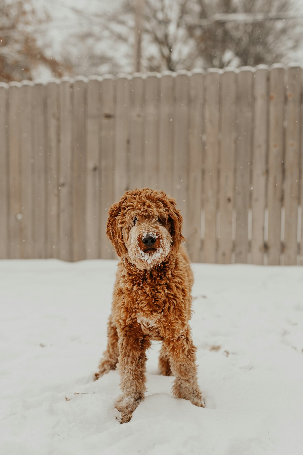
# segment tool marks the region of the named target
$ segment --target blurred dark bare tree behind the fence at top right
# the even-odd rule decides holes
[[[204,67],[255,66],[287,60],[289,51],[300,43],[300,30],[295,20],[258,20],[258,13],[271,13],[274,17],[292,11],[289,0],[194,0],[192,10],[196,19],[186,28],[189,38],[197,45]],[[250,13],[249,21],[210,22],[205,18],[218,13]]]

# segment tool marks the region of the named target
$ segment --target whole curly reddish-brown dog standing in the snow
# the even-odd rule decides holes
[[[182,217],[173,198],[149,188],[125,192],[109,209],[106,234],[120,257],[108,345],[96,379],[118,363],[118,420],[129,422],[145,391],[145,353],[161,340],[161,374],[174,375],[173,393],[204,406],[197,382],[189,319],[194,281],[181,247]]]

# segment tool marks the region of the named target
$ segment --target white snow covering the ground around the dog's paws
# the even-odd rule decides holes
[[[0,453],[303,453],[303,268],[194,264],[206,408],[176,399],[154,344],[146,399],[114,418],[119,374],[93,381],[115,261],[0,261]]]

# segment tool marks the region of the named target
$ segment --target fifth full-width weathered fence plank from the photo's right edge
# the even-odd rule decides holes
[[[218,262],[231,263],[232,256],[232,220],[235,168],[236,131],[236,74],[226,70],[222,74],[221,100],[221,159],[219,185],[219,249]]]

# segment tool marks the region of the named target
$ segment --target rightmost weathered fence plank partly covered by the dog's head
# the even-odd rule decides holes
[[[173,157],[173,194],[178,208],[183,216],[183,235],[187,239],[189,233],[188,205],[188,102],[189,102],[189,73],[177,71],[175,78],[174,96],[174,157]]]

